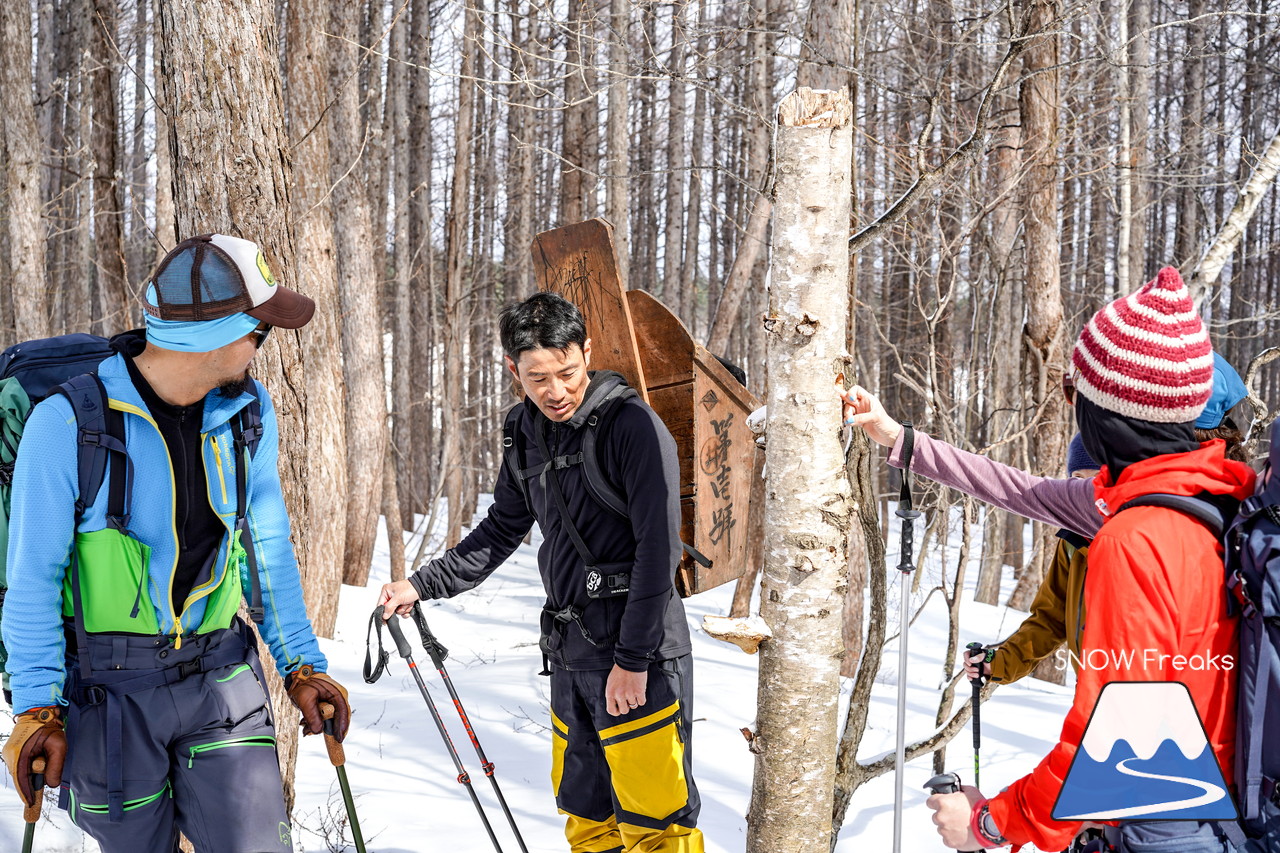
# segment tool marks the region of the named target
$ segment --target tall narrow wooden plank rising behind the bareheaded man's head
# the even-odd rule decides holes
[[[631,310],[618,275],[613,227],[603,219],[544,231],[534,238],[539,289],[559,293],[582,311],[591,339],[591,369],[617,370],[649,402],[631,334]]]

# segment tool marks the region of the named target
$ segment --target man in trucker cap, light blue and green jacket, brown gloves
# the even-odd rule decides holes
[[[248,375],[271,327],[301,328],[315,305],[275,283],[255,243],[206,234],[165,256],[143,307],[146,338],[124,336],[97,369],[128,466],[77,507],[67,397],[23,433],[3,622],[20,713],[4,760],[31,803],[45,758],[45,783],[65,783],[60,804],[104,853],[172,853],[179,831],[198,850],[292,850],[265,678],[236,613],[247,598],[261,619],[305,731],[329,703],[340,740],[347,693],[324,674],[275,410]]]

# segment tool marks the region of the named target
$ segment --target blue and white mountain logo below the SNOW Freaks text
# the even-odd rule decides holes
[[[1234,821],[1235,803],[1181,681],[1102,688],[1053,806],[1059,821]]]

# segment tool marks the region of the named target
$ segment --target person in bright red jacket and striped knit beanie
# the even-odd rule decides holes
[[[1102,464],[1094,497],[1105,516],[1089,553],[1083,648],[1135,651],[1120,666],[1082,669],[1057,745],[1029,775],[987,799],[974,788],[931,797],[945,844],[961,850],[1034,844],[1061,850],[1080,830],[1055,821],[1053,804],[1102,688],[1112,681],[1180,681],[1190,692],[1226,780],[1235,748],[1236,649],[1228,615],[1221,547],[1202,523],[1134,498],[1171,493],[1230,505],[1253,492],[1248,465],[1226,459],[1225,443],[1196,441],[1193,424],[1210,397],[1208,334],[1172,268],[1098,311],[1071,352],[1075,418],[1084,447]],[[1181,657],[1179,657],[1181,656]],[[1190,669],[1207,656],[1215,666]],[[1153,708],[1153,712],[1156,710]],[[1135,781],[1140,784],[1140,781]],[[1220,853],[1216,824],[1123,821],[1116,849]]]

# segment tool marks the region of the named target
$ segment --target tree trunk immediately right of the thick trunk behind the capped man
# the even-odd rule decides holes
[[[343,407],[342,311],[329,202],[328,0],[293,0],[285,22],[289,85],[285,90],[289,138],[293,141],[293,245],[298,254],[298,287],[316,302],[316,313],[301,336],[307,375],[307,540],[312,574],[302,594],[316,633],[333,637],[338,597],[328,590],[342,583],[347,512],[347,425]]]

